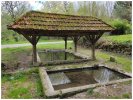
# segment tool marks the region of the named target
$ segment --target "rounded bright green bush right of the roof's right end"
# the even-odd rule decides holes
[[[111,35],[131,34],[132,32],[132,26],[127,20],[115,19],[111,25],[116,28],[115,31],[111,32]]]

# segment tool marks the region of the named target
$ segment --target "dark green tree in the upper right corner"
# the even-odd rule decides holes
[[[115,17],[131,21],[132,1],[116,1],[113,12]]]

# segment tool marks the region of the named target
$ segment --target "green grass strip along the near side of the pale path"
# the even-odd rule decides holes
[[[72,47],[72,43],[68,43],[68,48]],[[39,44],[37,50],[44,49],[64,49],[64,43],[61,44]],[[2,61],[15,62],[21,54],[29,55],[32,53],[32,46],[18,47],[18,48],[3,48],[1,50]]]

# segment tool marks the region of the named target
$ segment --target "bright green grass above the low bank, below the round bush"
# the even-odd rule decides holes
[[[131,43],[132,42],[132,34],[104,36],[103,39],[110,40],[112,42],[117,42],[117,43]]]

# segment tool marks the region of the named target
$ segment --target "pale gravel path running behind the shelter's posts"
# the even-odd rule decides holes
[[[72,42],[72,41],[67,41]],[[63,44],[64,41],[60,42],[39,42],[38,44]],[[7,45],[1,45],[1,48],[16,48],[16,47],[24,47],[24,46],[31,46],[30,43],[24,43],[24,44],[7,44]]]

